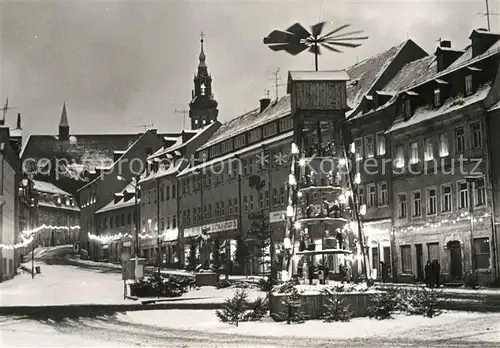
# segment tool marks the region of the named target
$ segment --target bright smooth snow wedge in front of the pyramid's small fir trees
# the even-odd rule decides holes
[[[175,318],[175,320],[166,320]],[[196,318],[196,320],[194,320]],[[217,320],[214,311],[170,310],[128,312],[120,321],[175,330],[193,330],[212,333],[249,336],[311,337],[348,340],[355,338],[383,338],[432,340],[455,339],[465,341],[498,342],[500,345],[500,314],[444,312],[435,318],[400,315],[392,320],[354,318],[347,323],[325,323],[320,320],[286,325],[268,318],[262,322],[240,323],[238,327]]]

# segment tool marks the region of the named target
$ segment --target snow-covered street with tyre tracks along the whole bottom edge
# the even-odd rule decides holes
[[[173,319],[173,320],[172,320]],[[495,347],[500,314],[444,313],[349,323],[271,319],[231,327],[213,311],[144,311],[63,323],[5,320],[2,347]]]

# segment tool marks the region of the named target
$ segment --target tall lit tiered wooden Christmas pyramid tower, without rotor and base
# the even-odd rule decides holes
[[[356,235],[352,223],[359,219],[343,130],[348,80],[344,71],[288,75],[294,141],[282,280],[292,274],[308,278],[311,264],[320,282],[339,278],[362,255],[361,229]]]

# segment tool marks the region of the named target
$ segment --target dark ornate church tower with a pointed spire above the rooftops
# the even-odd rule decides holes
[[[205,63],[205,52],[203,51],[203,32],[201,36],[200,63],[198,64],[198,73],[194,77],[194,90],[192,99],[189,103],[189,118],[191,119],[191,129],[202,128],[210,123],[217,121],[219,110],[218,103],[212,93],[212,77],[208,73]]]

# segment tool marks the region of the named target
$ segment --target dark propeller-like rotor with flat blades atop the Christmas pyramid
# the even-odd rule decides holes
[[[318,71],[318,55],[321,54],[320,47],[330,51],[342,53],[336,46],[340,47],[359,47],[360,43],[351,43],[346,41],[366,40],[368,36],[352,36],[363,33],[363,30],[340,33],[340,31],[351,26],[344,24],[340,27],[321,35],[326,22],[320,22],[311,27],[311,32],[304,28],[300,23],[295,23],[287,30],[274,30],[264,38],[264,43],[269,45],[273,51],[285,51],[292,55],[302,53],[306,49],[314,53],[314,63]]]

